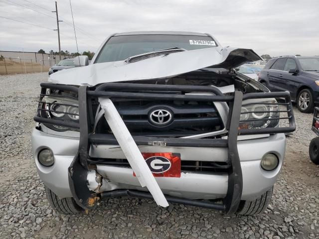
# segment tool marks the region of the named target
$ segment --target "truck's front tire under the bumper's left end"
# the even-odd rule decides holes
[[[73,198],[59,199],[47,186],[45,186],[45,193],[50,206],[59,213],[76,214],[83,211],[83,209],[75,203]]]

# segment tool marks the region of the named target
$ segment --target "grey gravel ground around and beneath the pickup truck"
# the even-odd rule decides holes
[[[256,217],[226,217],[152,200],[110,199],[88,215],[55,213],[31,157],[30,132],[39,83],[46,73],[0,76],[0,238],[319,238],[319,167],[308,145],[311,114],[295,108],[297,131],[288,137],[273,200]]]

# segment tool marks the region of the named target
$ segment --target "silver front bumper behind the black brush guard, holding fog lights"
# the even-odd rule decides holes
[[[57,143],[58,142],[58,143]],[[32,153],[40,179],[59,197],[72,197],[68,184],[68,167],[79,146],[79,139],[52,135],[34,129],[32,132]],[[279,133],[264,138],[241,140],[237,143],[243,173],[242,200],[252,200],[267,191],[280,173],[285,156],[286,137]],[[54,153],[55,163],[51,167],[42,166],[37,160],[38,152],[49,148]],[[90,156],[105,158],[123,158],[122,150],[115,145],[92,146]],[[143,152],[176,152],[181,160],[226,161],[227,148],[199,147],[142,147]],[[275,153],[279,158],[279,166],[273,171],[265,171],[260,167],[260,160],[266,153]],[[213,158],[211,157],[213,155]],[[135,189],[145,190],[133,176],[131,168],[97,165],[97,171],[109,178],[109,190]],[[188,199],[217,199],[227,193],[228,175],[181,173],[180,178],[156,178],[164,194]],[[107,182],[104,182],[107,183]],[[110,183],[109,183],[110,184]],[[106,185],[105,185],[106,186]]]

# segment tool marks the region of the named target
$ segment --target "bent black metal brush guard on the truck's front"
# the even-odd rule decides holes
[[[207,202],[202,200],[190,200],[185,198],[171,197],[165,195],[166,200],[171,203],[181,203],[192,206],[210,208],[223,211],[226,214],[233,214],[237,211],[242,189],[243,178],[240,165],[240,159],[237,149],[237,135],[247,134],[272,134],[285,133],[295,130],[295,119],[293,107],[291,104],[289,92],[275,93],[247,93],[245,95],[240,91],[235,91],[231,96],[223,95],[218,88],[212,86],[178,86],[178,85],[153,85],[153,84],[132,84],[132,83],[105,83],[97,88],[88,86],[69,86],[52,83],[41,83],[41,97],[48,96],[47,89],[61,90],[78,93],[79,101],[79,123],[67,122],[56,119],[46,119],[40,116],[41,109],[38,109],[34,120],[45,124],[54,124],[65,127],[79,129],[80,142],[79,149],[75,155],[69,169],[69,186],[76,203],[83,209],[92,209],[98,204],[101,197],[121,197],[130,196],[138,198],[152,199],[152,195],[148,192],[134,190],[114,190],[97,194],[90,191],[87,187],[87,174],[90,165],[88,164],[89,149],[91,143],[94,144],[115,144],[117,141],[114,135],[92,134],[92,125],[94,117],[92,116],[92,106],[90,100],[92,98],[105,97],[112,99],[137,99],[137,100],[185,100],[185,101],[203,101],[203,102],[227,102],[229,105],[229,113],[226,123],[228,131],[227,139],[186,139],[186,138],[168,138],[168,137],[146,137],[133,136],[137,145],[152,145],[152,142],[165,142],[166,146],[185,146],[185,147],[228,147],[228,162],[231,167],[228,172],[228,190],[222,203]],[[134,92],[132,92],[134,91]],[[150,91],[150,93],[139,93],[139,91]],[[214,96],[197,96],[197,95],[174,95],[174,94],[156,94],[152,91],[179,91],[179,92],[211,92]],[[56,95],[54,95],[56,96]],[[63,97],[63,96],[61,96]],[[242,101],[248,99],[264,99],[264,98],[283,98],[285,103],[274,103],[274,105],[282,105],[286,110],[288,117],[276,119],[288,119],[289,126],[271,127],[271,128],[254,128],[239,129]],[[40,106],[41,101],[39,102]],[[93,120],[93,122],[92,122]]]

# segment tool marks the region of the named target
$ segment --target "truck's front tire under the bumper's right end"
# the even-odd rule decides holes
[[[254,201],[241,201],[236,214],[257,215],[264,212],[271,201],[273,188],[274,187],[268,189],[266,193],[264,193]]]

